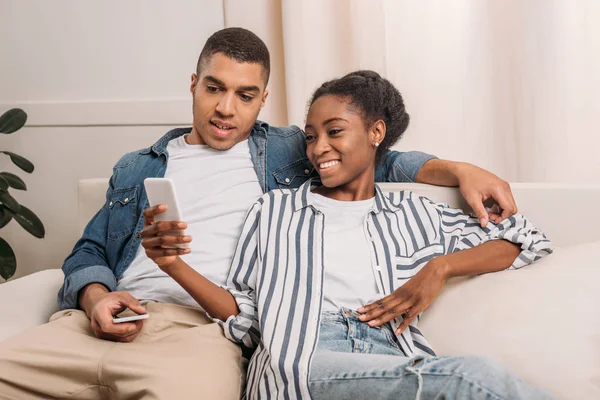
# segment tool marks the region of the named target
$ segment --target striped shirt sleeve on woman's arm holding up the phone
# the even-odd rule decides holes
[[[235,298],[240,312],[226,321],[213,318],[221,325],[227,339],[249,349],[256,348],[260,341],[255,288],[261,206],[262,201],[259,200],[246,215],[225,288]]]

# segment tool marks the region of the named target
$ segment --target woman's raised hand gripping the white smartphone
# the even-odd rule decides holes
[[[174,247],[175,244],[189,243],[191,236],[174,235],[173,231],[181,231],[187,228],[187,224],[181,221],[159,221],[155,222],[157,214],[167,210],[164,204],[149,207],[144,210],[144,229],[141,232],[142,246],[146,255],[154,261],[158,267],[169,273],[169,269],[175,265],[179,256],[188,254],[191,250]]]

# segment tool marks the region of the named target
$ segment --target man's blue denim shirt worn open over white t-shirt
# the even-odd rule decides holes
[[[114,166],[106,202],[87,224],[82,237],[63,264],[65,281],[58,293],[61,309],[77,308],[78,293],[90,283],[114,291],[141,243],[143,210],[148,207],[144,179],[164,177],[168,143],[191,132],[169,131],[153,146],[123,156]],[[250,156],[263,192],[297,188],[317,176],[306,157],[304,133],[297,126],[272,127],[257,121],[248,139]],[[420,152],[387,153],[376,171],[376,180],[414,182],[431,155]],[[248,204],[250,207],[250,204]]]

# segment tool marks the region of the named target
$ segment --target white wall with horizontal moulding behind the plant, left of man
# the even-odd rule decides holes
[[[0,112],[29,123],[0,149],[29,158],[12,191],[46,226],[35,239],[14,221],[0,231],[17,277],[59,268],[77,240],[77,181],[107,177],[125,152],[191,122],[190,76],[204,42],[224,27],[221,1],[0,0]]]

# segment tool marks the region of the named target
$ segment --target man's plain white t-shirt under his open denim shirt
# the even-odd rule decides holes
[[[224,285],[248,208],[262,195],[248,141],[220,151],[169,142],[165,177],[175,183],[191,253],[181,258],[217,285]],[[175,280],[150,260],[140,245],[117,284],[134,297],[199,307]]]

